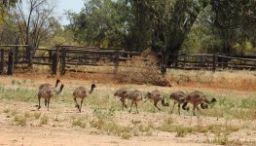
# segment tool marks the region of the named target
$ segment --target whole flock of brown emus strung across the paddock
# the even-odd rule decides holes
[[[38,110],[41,108],[40,99],[45,98],[45,106],[47,106],[47,110],[49,111],[49,104],[50,104],[51,98],[55,94],[60,93],[64,88],[64,85],[61,84],[59,90],[57,90],[59,83],[60,83],[60,80],[57,79],[55,82],[55,86],[53,86],[51,84],[42,84],[39,86]],[[91,84],[90,91],[87,91],[87,89],[84,87],[78,87],[75,89],[75,91],[73,91],[73,99],[76,103],[75,107],[78,108],[79,112],[81,112],[84,99],[86,97],[88,97],[89,94],[91,94],[91,92],[94,90],[94,88],[96,88],[96,86],[94,84]],[[114,96],[120,97],[120,100],[123,105],[123,110],[124,110],[124,108],[128,109],[128,106],[126,104],[126,99],[131,100],[131,105],[130,105],[130,108],[128,111],[129,113],[131,112],[131,108],[132,108],[133,104],[135,105],[136,113],[138,113],[137,105],[138,105],[138,102],[143,99],[143,97],[145,98],[144,102],[146,102],[147,100],[152,100],[154,103],[154,106],[158,110],[161,110],[158,107],[159,101],[162,102],[163,106],[169,106],[169,104],[165,102],[165,98],[162,95],[161,91],[158,91],[158,90],[149,91],[143,96],[142,91],[138,91],[138,90],[131,91],[126,88],[122,88],[122,89],[115,91]],[[77,98],[81,98],[80,104],[78,104]],[[186,94],[184,91],[174,91],[174,92],[170,93],[169,98],[170,98],[170,100],[173,101],[171,113],[176,104],[178,104],[179,115],[180,115],[181,104],[182,104],[183,110],[189,111],[190,109],[189,109],[189,107],[187,107],[187,104],[191,103],[193,105],[193,115],[194,116],[196,115],[195,109],[197,109],[199,112],[201,112],[201,109],[206,109],[208,107],[208,104],[211,104],[211,103],[214,103],[217,101],[216,98],[212,98],[211,100],[208,100],[201,91],[192,91],[192,92],[189,92],[188,94]],[[201,106],[201,109],[199,106]]]

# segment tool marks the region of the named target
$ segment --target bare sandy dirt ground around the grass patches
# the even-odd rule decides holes
[[[45,76],[17,76],[17,77],[0,77],[0,83],[5,88],[14,88],[12,85],[13,80],[32,79],[35,81],[33,85],[26,85],[25,88],[37,91],[37,87],[42,83],[55,83],[55,78],[47,78]],[[114,91],[125,85],[115,84],[99,84],[97,81],[83,81],[79,79],[65,79],[60,78],[66,85],[66,89],[73,89],[78,86],[90,85],[91,82],[96,83],[96,91]],[[153,89],[159,89],[161,91],[169,91],[166,87],[154,87],[149,85],[128,85],[142,91],[152,91]],[[204,91],[212,91],[217,93],[235,92],[241,96],[247,93],[256,93],[256,91],[234,91],[234,90],[222,90],[222,89],[210,89],[207,87],[171,87],[171,91],[185,90],[192,91],[194,89],[201,89]],[[36,97],[36,96],[35,96]],[[87,115],[89,119],[92,119],[92,109],[88,106],[83,107],[82,113],[78,113],[73,104],[61,104],[57,105],[53,103],[51,110],[47,111],[46,108],[42,108],[38,111],[35,107],[37,102],[23,102],[23,101],[10,101],[0,100],[0,145],[171,145],[171,146],[208,146],[214,145],[212,143],[205,143],[206,139],[213,139],[213,135],[204,133],[189,133],[185,137],[177,137],[174,132],[154,131],[151,135],[132,136],[130,139],[123,139],[120,136],[108,135],[95,128],[77,128],[70,125],[70,121],[61,121],[66,117]],[[117,102],[119,102],[117,100]],[[58,115],[57,120],[51,121],[48,125],[37,126],[35,122],[27,122],[27,126],[20,127],[12,125],[12,118],[8,113],[3,112],[5,109],[16,110],[18,113],[26,112],[29,114],[41,113],[47,114],[49,117],[55,119],[55,115]],[[61,109],[61,110],[58,110]],[[57,114],[56,114],[57,113]],[[170,116],[174,123],[184,125],[202,125],[210,124],[225,124],[227,120],[224,118],[216,117],[194,117],[189,115],[177,115],[171,114]],[[120,125],[129,125],[130,122],[138,123],[153,123],[154,127],[160,125],[166,113],[163,111],[156,113],[140,112],[139,114],[129,114],[127,111],[117,111],[115,121]],[[240,127],[249,125],[255,127],[254,121],[242,121],[242,120],[230,120],[228,122],[232,125],[238,125]],[[256,129],[256,128],[255,128]],[[256,140],[256,130],[254,128],[238,130],[231,134],[233,139],[239,138],[240,141],[252,141]],[[241,144],[243,145],[243,144]]]

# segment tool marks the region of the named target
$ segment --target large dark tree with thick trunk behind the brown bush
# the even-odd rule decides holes
[[[132,0],[135,16],[143,32],[151,31],[152,49],[162,55],[166,72],[169,54],[177,54],[207,0]],[[145,30],[146,29],[146,30]]]

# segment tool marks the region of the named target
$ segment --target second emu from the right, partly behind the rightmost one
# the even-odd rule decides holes
[[[176,105],[176,103],[178,103],[178,112],[180,115],[180,104],[185,102],[186,96],[187,96],[186,93],[183,91],[174,91],[174,92],[170,93],[169,98],[170,98],[170,100],[173,100],[173,106],[172,106],[170,113],[172,113],[174,106]],[[186,110],[188,111],[189,107],[187,107]]]

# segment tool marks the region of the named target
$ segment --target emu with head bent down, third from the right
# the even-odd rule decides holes
[[[154,106],[157,107],[159,110],[161,110],[158,107],[159,101],[162,101],[163,106],[169,106],[168,103],[165,103],[165,98],[162,96],[162,93],[158,90],[148,92],[145,98],[147,99],[144,102],[146,102],[147,100],[152,100],[154,102]]]

